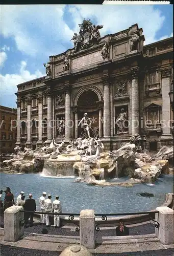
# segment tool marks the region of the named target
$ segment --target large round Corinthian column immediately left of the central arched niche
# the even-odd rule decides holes
[[[70,91],[65,93],[65,140],[71,138],[71,98]]]

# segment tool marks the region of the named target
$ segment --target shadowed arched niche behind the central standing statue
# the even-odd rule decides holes
[[[98,95],[92,91],[88,90],[83,92],[77,101],[78,106],[78,122],[82,119],[84,113],[88,113],[88,117],[91,118],[92,123],[91,127],[92,129],[98,129],[98,109],[97,109],[97,101]],[[78,136],[80,136],[82,131],[81,126],[78,127]]]

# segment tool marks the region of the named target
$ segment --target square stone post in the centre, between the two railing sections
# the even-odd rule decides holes
[[[95,249],[95,215],[94,210],[81,210],[80,245]]]

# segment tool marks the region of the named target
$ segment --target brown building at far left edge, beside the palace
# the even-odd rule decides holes
[[[7,108],[7,106],[0,106],[0,120],[0,154],[14,153],[14,147],[17,140],[17,128],[15,127],[17,110]]]

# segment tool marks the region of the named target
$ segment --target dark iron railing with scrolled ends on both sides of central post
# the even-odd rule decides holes
[[[30,212],[33,214],[48,214],[48,215],[61,215],[61,216],[68,216],[68,220],[69,221],[73,221],[74,220],[74,216],[80,216],[80,214],[70,214],[70,213],[57,213],[57,212],[49,212],[49,211],[28,211],[28,210],[20,210],[22,212]],[[128,216],[128,215],[148,215],[149,216],[149,220],[150,221],[154,221],[155,222],[155,227],[159,228],[160,224],[159,222],[155,221],[154,219],[154,215],[155,214],[159,214],[159,211],[141,211],[141,212],[126,212],[123,214],[95,214],[95,216],[101,216],[102,221],[107,222],[109,216]],[[80,226],[77,223],[71,222],[72,224],[76,225],[76,231],[80,230]],[[96,222],[97,223],[97,222]],[[99,231],[100,227],[98,227],[99,225],[102,225],[102,223],[96,224],[95,225],[95,230]]]

